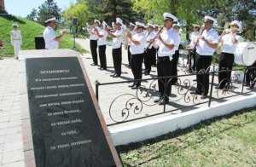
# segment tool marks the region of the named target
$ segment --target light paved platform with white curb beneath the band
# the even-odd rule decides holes
[[[77,42],[84,49],[90,50],[89,40],[78,39]],[[108,71],[99,70],[99,66],[90,66],[92,63],[91,55],[83,55],[84,66],[90,77],[90,82],[96,85],[96,81],[99,83],[109,83],[131,80],[133,78],[131,69],[125,66],[128,62],[127,51],[123,49],[123,73],[121,78],[110,77],[113,73],[111,46],[108,45],[106,53]],[[184,67],[185,57],[181,56],[179,61],[178,75],[183,75],[186,73]],[[218,69],[216,70],[218,71]],[[143,75],[143,78],[156,77],[156,67],[153,67],[150,76]],[[154,117],[108,126],[108,130],[110,130],[113,136],[114,143],[116,145],[122,145],[133,141],[142,141],[152,138],[152,136],[163,135],[168,131],[183,129],[192,124],[197,124],[201,122],[201,120],[228,114],[244,107],[255,106],[256,103],[253,102],[256,100],[255,89],[244,88],[244,94],[241,95],[242,72],[233,72],[232,78],[232,86],[234,88],[230,91],[222,91],[215,89],[215,87],[218,86],[218,76],[215,76],[212,90],[214,101],[212,101],[211,107],[208,107],[208,99],[201,100],[200,96],[190,95],[188,93],[190,90],[195,89],[195,75],[180,78],[182,85],[189,85],[187,88],[183,89],[180,86],[174,86],[172,89],[171,102],[166,105],[166,111],[172,112],[162,114],[163,106],[159,106],[153,102],[157,95],[157,91],[155,91],[155,89],[157,89],[157,80],[142,83],[144,87],[142,90],[131,90],[128,87],[131,83],[100,86],[99,104],[107,124],[115,124],[118,121],[129,121],[131,119],[148,117],[160,113]],[[211,79],[212,78],[210,78],[210,81]],[[95,87],[94,89],[96,91]],[[150,94],[149,97],[147,97],[147,93]],[[138,99],[140,101],[138,101]],[[133,107],[137,107],[137,110],[136,108],[130,107],[131,110],[128,112],[127,108],[129,107],[125,105],[130,104],[133,104]],[[157,126],[157,124],[159,126]],[[145,131],[148,131],[148,133],[145,133]]]

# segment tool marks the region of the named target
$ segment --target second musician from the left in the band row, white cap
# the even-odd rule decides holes
[[[99,25],[98,28],[96,28],[96,36],[98,37],[98,48],[99,48],[99,58],[100,58],[100,64],[101,70],[107,70],[107,57],[106,57],[106,46],[107,46],[107,37],[108,32],[106,32],[107,23],[105,21],[102,22],[102,24]]]

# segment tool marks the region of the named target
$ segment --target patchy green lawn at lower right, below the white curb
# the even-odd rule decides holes
[[[256,166],[256,110],[118,150],[125,166]]]

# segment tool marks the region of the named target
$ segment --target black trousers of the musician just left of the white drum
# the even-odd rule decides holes
[[[232,70],[235,57],[233,54],[221,53],[218,56],[218,71]],[[230,83],[232,72],[219,72],[218,84],[220,89],[224,89],[227,83]]]

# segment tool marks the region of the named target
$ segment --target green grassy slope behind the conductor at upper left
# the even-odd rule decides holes
[[[10,44],[9,33],[11,31],[12,24],[15,21],[19,22],[20,31],[23,38],[21,49],[35,49],[34,37],[42,36],[44,32],[44,26],[39,25],[36,22],[22,19],[22,18],[5,18],[0,16],[0,40],[3,41],[4,47],[0,50],[0,56],[12,57],[14,56],[13,46]],[[73,40],[70,35],[63,37],[60,44],[61,49],[73,49]],[[84,53],[85,50],[78,46],[76,49],[79,52]]]

